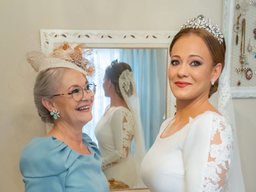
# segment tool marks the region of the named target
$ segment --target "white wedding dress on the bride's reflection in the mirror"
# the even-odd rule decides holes
[[[106,178],[115,178],[134,187],[136,166],[131,156],[134,119],[123,106],[106,108],[95,128],[98,147],[102,153],[102,170]]]

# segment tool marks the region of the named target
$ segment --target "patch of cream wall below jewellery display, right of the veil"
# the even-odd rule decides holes
[[[256,99],[233,101],[246,192],[256,192]]]

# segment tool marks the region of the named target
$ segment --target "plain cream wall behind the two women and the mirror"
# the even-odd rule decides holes
[[[0,191],[24,191],[21,150],[32,137],[45,134],[32,97],[36,73],[25,59],[40,29],[178,30],[198,14],[220,24],[222,0],[1,0]],[[234,102],[248,192],[256,191],[255,101]]]

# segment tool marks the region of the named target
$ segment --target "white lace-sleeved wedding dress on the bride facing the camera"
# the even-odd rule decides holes
[[[163,122],[142,161],[142,179],[150,192],[230,192],[233,139],[227,120],[204,112],[173,135],[160,138],[172,122]]]

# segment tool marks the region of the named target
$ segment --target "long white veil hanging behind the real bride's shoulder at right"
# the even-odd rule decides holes
[[[240,154],[238,148],[236,123],[234,115],[233,101],[230,91],[228,69],[224,68],[219,78],[218,86],[218,110],[229,121],[233,129],[233,158],[229,170],[229,190],[228,192],[245,192],[244,179],[242,176]],[[224,190],[225,191],[225,190]]]

